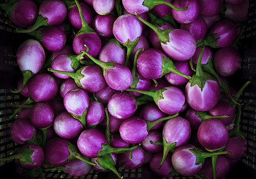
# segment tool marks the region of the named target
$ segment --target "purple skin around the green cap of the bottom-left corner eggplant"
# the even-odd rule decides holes
[[[44,162],[44,150],[37,144],[26,144],[20,147],[20,151],[26,149],[27,147],[29,147],[29,150],[33,151],[32,155],[30,156],[33,163],[24,163],[22,166],[28,169],[37,168],[42,164],[42,162]]]

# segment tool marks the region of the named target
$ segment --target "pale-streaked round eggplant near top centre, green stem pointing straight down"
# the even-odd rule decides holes
[[[113,35],[122,45],[127,47],[125,66],[135,45],[138,44],[143,27],[141,22],[132,14],[125,14],[116,18],[113,24]]]

